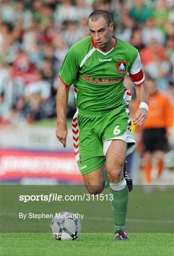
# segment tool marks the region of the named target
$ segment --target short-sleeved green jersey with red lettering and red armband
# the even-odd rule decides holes
[[[135,85],[144,82],[138,50],[121,39],[115,40],[113,48],[104,53],[91,37],[86,37],[67,53],[59,78],[66,86],[74,84],[77,108],[102,111],[124,104],[123,82],[128,72]]]

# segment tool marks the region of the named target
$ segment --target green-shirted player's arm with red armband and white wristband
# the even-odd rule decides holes
[[[141,69],[140,55],[136,53],[136,59],[133,62],[129,71],[129,76],[135,85],[137,99],[140,102],[139,109],[133,119],[133,124],[141,126],[145,123],[148,116],[149,104],[149,89],[145,82],[145,77]]]

